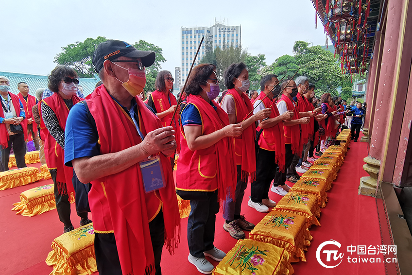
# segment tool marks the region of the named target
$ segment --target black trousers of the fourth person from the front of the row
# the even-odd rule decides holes
[[[269,189],[275,178],[277,164],[275,151],[259,149],[256,159],[256,179],[250,185],[250,199],[254,203],[261,203],[269,198]]]

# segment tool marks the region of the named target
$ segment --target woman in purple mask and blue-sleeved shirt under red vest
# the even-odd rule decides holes
[[[227,114],[213,101],[220,92],[215,70],[213,64],[201,64],[188,79],[187,104],[180,118],[185,138],[181,139],[176,172],[177,194],[190,200],[191,207],[188,259],[203,274],[213,270],[205,256],[221,261],[226,255],[213,245],[216,214],[236,186],[233,137],[243,131],[240,124],[230,124]]]

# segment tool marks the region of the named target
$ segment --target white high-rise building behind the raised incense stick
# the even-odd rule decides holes
[[[180,34],[182,35],[182,38],[180,39],[182,45],[181,79],[179,82],[176,80],[176,84],[179,86],[183,84],[188,77],[190,66],[203,36],[205,36],[205,39],[197,55],[195,65],[199,64],[200,60],[202,60],[203,56],[206,54],[207,48],[213,51],[216,47],[239,47],[241,32],[240,26],[225,26],[217,23],[210,28],[182,27],[180,28]]]

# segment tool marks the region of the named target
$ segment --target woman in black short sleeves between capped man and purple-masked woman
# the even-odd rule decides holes
[[[147,104],[152,107],[157,117],[162,121],[163,127],[173,126],[176,131],[177,153],[180,152],[180,135],[178,134],[180,106],[172,94],[173,90],[172,73],[168,70],[159,71],[154,82],[156,88],[148,97]],[[177,111],[174,110],[177,107]],[[173,117],[174,113],[174,117]],[[172,124],[171,124],[172,123]],[[172,155],[172,166],[174,166],[174,156]]]

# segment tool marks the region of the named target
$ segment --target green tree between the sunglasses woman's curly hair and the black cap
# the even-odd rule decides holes
[[[106,41],[106,37],[98,36],[96,39],[87,38],[84,42],[77,41],[62,47],[63,52],[54,57],[54,62],[60,65],[68,65],[77,71],[79,77],[93,77],[96,73],[91,63],[91,57],[97,45]]]

